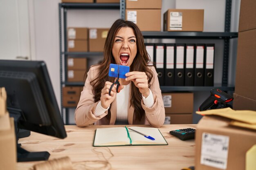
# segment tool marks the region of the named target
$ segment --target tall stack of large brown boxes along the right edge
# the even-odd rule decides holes
[[[241,0],[233,108],[256,110],[256,1]]]

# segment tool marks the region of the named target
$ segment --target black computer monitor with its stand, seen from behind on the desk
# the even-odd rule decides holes
[[[0,87],[7,92],[7,109],[19,128],[67,137],[47,67],[43,61],[0,60]],[[18,145],[18,161],[47,160],[49,152],[28,152]]]

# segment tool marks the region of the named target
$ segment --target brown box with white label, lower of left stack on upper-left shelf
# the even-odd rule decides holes
[[[87,52],[88,51],[88,40],[68,40],[68,51],[69,52]]]

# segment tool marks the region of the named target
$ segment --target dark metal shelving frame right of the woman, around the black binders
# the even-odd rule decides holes
[[[125,0],[120,1],[120,15],[125,20]],[[229,69],[229,41],[231,38],[238,38],[237,32],[230,32],[230,20],[231,20],[231,6],[232,0],[226,0],[225,7],[225,32],[167,32],[167,31],[144,31],[142,32],[145,39],[152,38],[169,38],[169,39],[221,39],[224,40],[224,53],[223,53],[223,71],[222,71],[222,84],[218,88],[226,89],[226,91],[234,91],[235,87],[228,87],[228,69]],[[217,88],[217,86],[215,86]],[[161,90],[164,91],[208,91],[209,88],[201,86],[161,86]],[[211,87],[213,88],[213,87]]]

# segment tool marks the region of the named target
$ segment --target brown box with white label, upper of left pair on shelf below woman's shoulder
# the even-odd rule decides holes
[[[71,70],[73,69],[87,70],[87,58],[68,57],[67,68]]]

